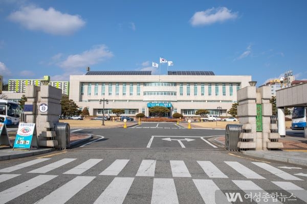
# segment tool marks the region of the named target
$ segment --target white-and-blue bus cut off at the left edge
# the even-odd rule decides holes
[[[19,124],[19,105],[16,102],[0,99],[0,122],[7,126]]]

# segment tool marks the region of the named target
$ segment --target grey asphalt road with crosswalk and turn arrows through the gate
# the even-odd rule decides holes
[[[306,167],[226,151],[209,137],[224,130],[142,123],[78,132],[93,143],[0,162],[0,203],[260,203],[258,194],[263,203],[307,202]],[[266,192],[282,202],[265,201]]]

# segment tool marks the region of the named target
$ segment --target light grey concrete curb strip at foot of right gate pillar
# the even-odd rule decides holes
[[[268,159],[268,160],[273,160],[277,162],[286,162],[290,164],[297,164],[297,165],[302,165],[302,166],[307,166],[307,160],[304,157],[301,157],[297,152],[287,152],[287,155],[281,155],[282,152],[280,151],[278,155],[276,155],[276,151],[273,152],[264,152],[264,151],[242,151],[243,155],[247,156],[252,156],[252,157],[257,157],[257,158],[262,158],[262,159]],[[275,155],[273,155],[275,154]]]

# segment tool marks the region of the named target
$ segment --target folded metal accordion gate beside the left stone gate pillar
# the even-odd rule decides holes
[[[56,149],[66,149],[70,147],[70,126],[69,123],[57,122],[54,123],[53,131],[56,137],[53,140],[58,141]]]

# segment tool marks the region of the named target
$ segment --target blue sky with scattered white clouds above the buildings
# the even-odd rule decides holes
[[[68,81],[91,70],[307,80],[307,1],[0,0],[0,75]]]

